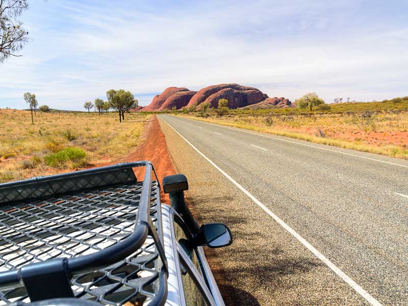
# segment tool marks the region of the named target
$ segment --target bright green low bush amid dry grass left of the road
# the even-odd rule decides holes
[[[77,168],[85,164],[86,153],[83,149],[67,147],[57,153],[44,157],[46,165],[51,167]]]

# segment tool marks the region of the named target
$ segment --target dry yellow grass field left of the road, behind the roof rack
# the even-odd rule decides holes
[[[40,113],[31,124],[28,111],[0,110],[0,183],[88,167],[116,160],[138,145],[151,115],[131,113],[118,122],[117,114],[80,112]],[[58,163],[45,160],[69,148],[86,157]],[[61,155],[61,154],[60,154]],[[58,156],[58,155],[57,155]]]

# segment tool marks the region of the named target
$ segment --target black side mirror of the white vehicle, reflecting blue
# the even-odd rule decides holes
[[[202,224],[197,236],[201,245],[207,245],[210,248],[224,247],[233,243],[230,228],[224,223]]]

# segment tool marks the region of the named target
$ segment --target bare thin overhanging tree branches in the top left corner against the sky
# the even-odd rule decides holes
[[[21,56],[16,52],[29,40],[29,32],[17,18],[27,9],[27,0],[0,0],[0,63],[9,56]]]

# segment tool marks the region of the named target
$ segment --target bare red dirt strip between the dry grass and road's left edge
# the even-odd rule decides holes
[[[171,163],[167,150],[166,139],[156,115],[146,123],[141,140],[141,144],[129,156],[122,157],[113,162],[98,164],[98,167],[115,165],[121,162],[150,161],[155,167],[160,184],[163,181],[163,177],[175,174],[174,166]],[[143,179],[144,171],[141,168],[136,168],[135,174],[140,181]],[[161,190],[160,199],[163,203],[170,203],[168,194],[164,194],[163,189]]]

